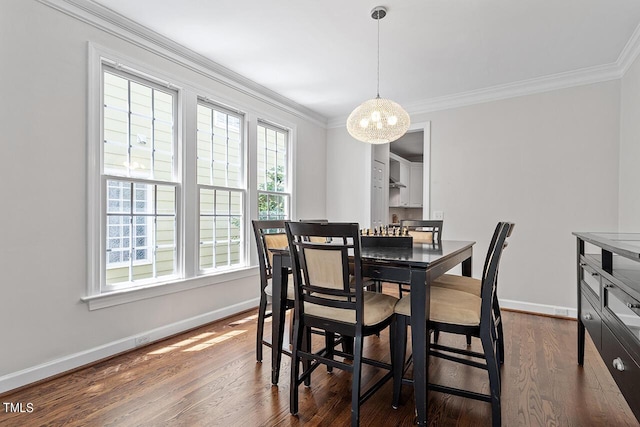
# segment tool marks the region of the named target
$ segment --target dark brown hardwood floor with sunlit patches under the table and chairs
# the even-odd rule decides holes
[[[576,323],[504,312],[506,361],[502,368],[505,426],[637,426],[591,341],[585,365],[576,362]],[[350,421],[350,375],[317,370],[311,388],[300,388],[300,414],[289,414],[289,363],[278,387],[271,362],[255,361],[255,312],[225,319],[52,381],[0,396],[33,405],[8,414],[5,426],[343,426]],[[443,335],[464,345],[464,337]],[[479,341],[473,347],[480,348]],[[265,348],[265,355],[270,350]],[[388,359],[388,335],[370,337],[365,354]],[[377,373],[364,370],[364,381]],[[487,390],[486,373],[434,360],[430,381]],[[391,384],[362,407],[363,426],[411,426],[410,387],[398,410]],[[430,393],[433,426],[490,425],[488,403]]]

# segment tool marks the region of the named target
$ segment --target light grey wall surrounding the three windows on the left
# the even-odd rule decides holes
[[[126,350],[136,334],[152,331],[154,338],[176,333],[257,305],[257,271],[240,280],[100,310],[89,311],[80,301],[87,292],[88,41],[293,123],[298,140],[296,213],[326,215],[323,126],[41,3],[3,1],[0,392]]]

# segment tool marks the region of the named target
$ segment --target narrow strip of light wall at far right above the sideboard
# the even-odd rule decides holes
[[[620,231],[640,231],[640,59],[622,78],[620,109]]]

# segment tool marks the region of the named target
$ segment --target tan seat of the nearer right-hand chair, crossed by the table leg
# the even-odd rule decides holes
[[[431,315],[433,322],[452,325],[477,326],[480,324],[482,300],[468,292],[442,287],[431,288]],[[411,294],[402,297],[396,304],[396,313],[411,315]]]

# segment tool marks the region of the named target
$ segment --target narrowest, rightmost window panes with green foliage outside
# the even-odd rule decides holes
[[[258,218],[287,219],[291,193],[288,166],[289,133],[258,123]]]

